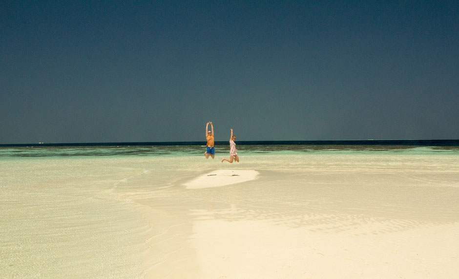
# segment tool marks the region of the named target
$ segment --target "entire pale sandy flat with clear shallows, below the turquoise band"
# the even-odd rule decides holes
[[[4,160],[0,273],[454,279],[458,155],[423,152]]]

